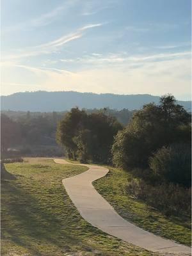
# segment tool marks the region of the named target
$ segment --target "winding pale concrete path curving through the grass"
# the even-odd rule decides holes
[[[54,162],[70,164],[64,159],[54,159]],[[94,180],[104,177],[109,170],[102,166],[81,165],[87,166],[89,170],[63,179],[62,182],[84,220],[111,236],[152,252],[191,255],[191,248],[188,246],[156,236],[124,220],[92,185]]]

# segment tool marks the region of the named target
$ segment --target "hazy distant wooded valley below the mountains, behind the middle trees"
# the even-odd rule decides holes
[[[104,113],[127,125],[134,111],[122,109],[83,109],[86,113]],[[30,112],[1,111],[1,153],[4,156],[62,156],[63,149],[56,143],[58,122],[67,111]],[[13,150],[13,151],[12,151]],[[2,155],[2,156],[3,156]]]

